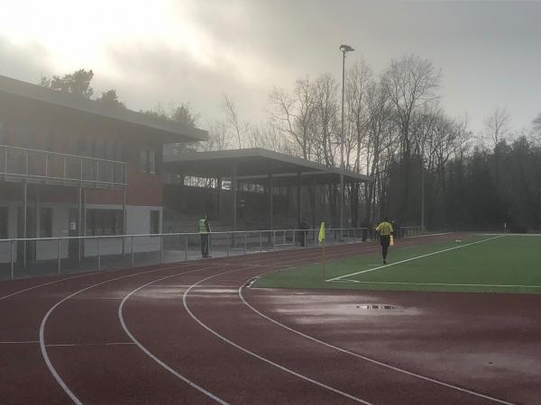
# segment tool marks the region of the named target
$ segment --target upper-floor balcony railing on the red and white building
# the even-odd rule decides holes
[[[0,145],[0,180],[93,188],[124,188],[128,164]]]

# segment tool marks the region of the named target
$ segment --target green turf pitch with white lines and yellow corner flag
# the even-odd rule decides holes
[[[416,247],[381,251],[293,267],[262,277],[260,288],[541,293],[541,237],[471,235]]]

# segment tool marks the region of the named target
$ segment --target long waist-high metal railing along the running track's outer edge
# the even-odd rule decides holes
[[[371,228],[325,229],[325,245],[374,241]],[[403,227],[399,237],[420,236],[420,227]],[[315,247],[319,229],[212,232],[209,253],[230,257]],[[0,239],[0,280],[105,269],[177,263],[201,258],[198,233]]]

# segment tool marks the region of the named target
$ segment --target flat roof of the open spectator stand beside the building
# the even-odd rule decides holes
[[[303,183],[308,180],[316,184],[335,184],[340,181],[340,175],[344,175],[346,183],[372,181],[367,175],[262,148],[183,153],[164,162],[165,170],[172,174],[225,180],[231,178],[234,165],[238,180],[254,184],[266,183],[269,175],[276,186],[297,184],[299,175]]]

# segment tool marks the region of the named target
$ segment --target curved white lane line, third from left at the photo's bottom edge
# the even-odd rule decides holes
[[[222,274],[219,274],[219,275],[226,275],[226,274],[229,274],[229,273],[234,273],[234,272],[237,272],[237,271],[240,271],[240,270],[246,270],[246,269],[237,269],[237,270],[230,270],[230,271],[227,271],[227,272],[224,272]],[[292,374],[292,375],[295,375],[296,377],[302,379],[302,380],[305,380],[307,381],[308,383],[314,383],[316,384],[317,386],[319,387],[322,387],[322,388],[326,388],[327,390],[331,391],[331,392],[335,392],[337,394],[340,394],[340,395],[343,395],[344,397],[346,398],[349,398],[350,400],[353,400],[353,401],[357,401],[357,402],[361,402],[363,404],[366,404],[366,405],[371,405],[370,402],[367,402],[367,401],[363,401],[361,400],[360,398],[357,398],[357,397],[354,397],[353,395],[351,394],[348,394],[347,392],[343,392],[343,391],[340,391],[340,390],[337,390],[336,388],[333,388],[329,385],[326,385],[325,383],[319,383],[318,381],[310,378],[310,377],[307,377],[306,375],[303,375],[303,374],[299,374],[287,367],[285,367],[284,365],[279,365],[278,363],[275,363],[271,360],[269,360],[268,358],[266,357],[263,357],[263,356],[260,356],[254,352],[252,352],[251,350],[245,348],[245,347],[242,347],[240,345],[237,345],[236,343],[234,343],[234,341],[228,339],[228,338],[225,338],[225,336],[219,334],[218,332],[216,332],[214,329],[211,329],[210,327],[208,327],[205,323],[203,323],[203,321],[199,320],[195,315],[194,313],[189,309],[189,306],[188,306],[188,302],[187,302],[187,297],[188,297],[188,293],[192,290],[192,288],[194,288],[195,286],[197,286],[197,284],[200,284],[200,283],[204,283],[206,282],[206,280],[210,280],[211,278],[214,278],[214,277],[217,277],[219,275],[211,275],[209,277],[206,277],[204,278],[203,280],[193,284],[191,287],[188,288],[188,290],[186,290],[186,292],[182,295],[182,303],[184,305],[184,308],[186,309],[186,311],[188,311],[188,314],[189,316],[195,320],[199,325],[201,325],[204,329],[208,330],[210,333],[212,333],[213,335],[215,335],[216,338],[220,338],[222,340],[224,340],[226,343],[228,343],[229,345],[233,346],[233,347],[236,347],[237,349],[243,351],[244,353],[250,355],[250,356],[253,356],[259,360],[261,360],[262,362],[265,362],[269,365],[273,365],[274,367],[286,372],[286,373],[289,373],[289,374]]]

